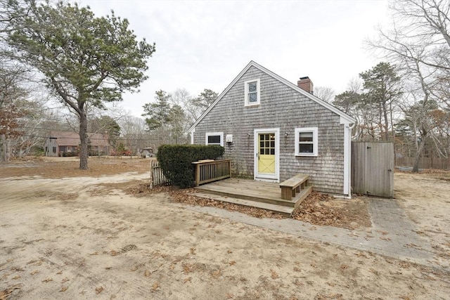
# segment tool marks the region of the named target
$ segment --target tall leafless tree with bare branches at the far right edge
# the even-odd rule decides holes
[[[416,120],[413,171],[418,171],[425,141],[436,141],[435,129],[443,122],[433,117],[442,115],[436,109],[448,110],[450,104],[450,1],[397,0],[390,3],[390,10],[390,29],[380,28],[379,38],[368,41],[368,46],[381,51],[399,67],[404,81],[412,83],[406,84],[409,107],[404,107],[404,112]]]

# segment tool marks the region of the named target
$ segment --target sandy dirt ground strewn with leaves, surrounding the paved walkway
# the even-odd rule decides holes
[[[438,264],[198,213],[167,193],[127,195],[119,187],[145,182],[148,161],[89,163],[0,167],[0,299],[449,299]],[[395,193],[449,261],[449,174],[396,174]]]

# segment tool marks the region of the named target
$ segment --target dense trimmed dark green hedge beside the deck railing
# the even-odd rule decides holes
[[[174,185],[178,185],[179,188],[190,188],[195,180],[192,162],[217,159],[224,151],[224,147],[216,145],[160,145],[156,157],[164,175]]]

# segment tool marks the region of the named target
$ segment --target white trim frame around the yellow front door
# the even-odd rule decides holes
[[[258,174],[258,134],[259,133],[275,133],[275,174]],[[254,157],[254,171],[253,178],[257,181],[273,181],[280,182],[280,129],[255,129],[253,133],[253,157]]]

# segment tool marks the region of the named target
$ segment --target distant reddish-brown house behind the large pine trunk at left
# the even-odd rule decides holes
[[[109,155],[108,138],[102,133],[87,133],[89,155]],[[79,154],[79,134],[73,131],[50,131],[45,141],[46,156],[76,156]]]

